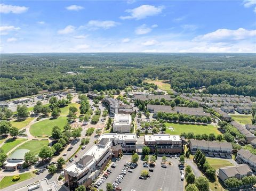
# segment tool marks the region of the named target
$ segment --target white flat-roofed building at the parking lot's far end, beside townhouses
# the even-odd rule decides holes
[[[150,152],[155,152],[157,147],[158,153],[182,153],[184,141],[179,135],[154,134],[144,136],[144,144],[150,148]]]

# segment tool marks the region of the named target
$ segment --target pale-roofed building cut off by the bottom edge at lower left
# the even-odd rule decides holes
[[[57,186],[54,181],[49,182],[46,178],[39,180],[25,187],[16,189],[16,191],[57,191]]]

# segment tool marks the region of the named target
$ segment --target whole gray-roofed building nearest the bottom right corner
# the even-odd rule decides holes
[[[241,180],[245,176],[252,176],[252,171],[246,164],[219,168],[219,179],[224,182],[228,178]]]

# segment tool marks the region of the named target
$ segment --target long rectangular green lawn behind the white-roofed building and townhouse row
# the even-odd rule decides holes
[[[166,125],[166,134],[170,135],[180,135],[182,132],[194,132],[194,134],[221,134],[218,131],[217,127],[212,126],[211,124],[207,126],[197,125],[197,124],[179,124],[179,123],[165,123]],[[169,127],[173,127],[173,130],[169,129]]]

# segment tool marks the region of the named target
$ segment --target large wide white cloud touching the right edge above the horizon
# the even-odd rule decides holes
[[[205,35],[195,37],[194,41],[233,41],[233,40],[245,40],[256,37],[256,30],[246,30],[239,28],[237,30],[230,29],[218,29]]]

